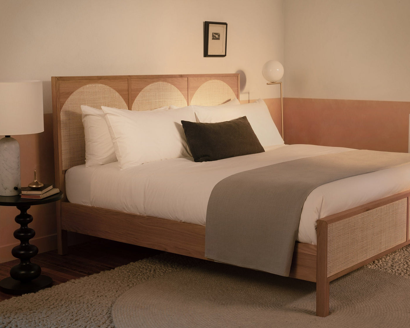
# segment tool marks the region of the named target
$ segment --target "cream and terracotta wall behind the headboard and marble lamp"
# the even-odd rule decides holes
[[[228,23],[226,57],[203,57],[204,21]],[[242,100],[280,94],[261,71],[283,61],[283,0],[0,0],[0,31],[0,80],[43,81],[45,132],[16,137],[23,185],[33,169],[54,177],[51,76],[240,72]],[[29,212],[33,244],[55,248],[54,205]],[[0,207],[0,262],[14,259],[16,214]]]

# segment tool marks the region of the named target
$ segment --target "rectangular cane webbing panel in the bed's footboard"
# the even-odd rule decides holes
[[[407,198],[329,224],[327,276],[405,242],[406,225]]]

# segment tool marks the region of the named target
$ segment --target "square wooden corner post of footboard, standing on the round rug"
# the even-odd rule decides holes
[[[316,315],[329,315],[328,267],[328,223],[317,221],[317,260],[316,260]]]

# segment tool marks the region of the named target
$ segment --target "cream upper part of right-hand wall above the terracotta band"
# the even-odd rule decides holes
[[[286,97],[410,101],[409,0],[286,0]]]

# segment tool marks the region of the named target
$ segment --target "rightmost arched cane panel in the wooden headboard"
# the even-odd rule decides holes
[[[195,91],[190,105],[215,106],[235,98],[231,87],[221,80],[209,80]]]

